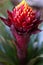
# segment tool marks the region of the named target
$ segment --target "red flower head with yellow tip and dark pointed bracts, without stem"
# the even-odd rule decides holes
[[[34,11],[27,5],[26,2],[20,3],[12,12],[7,11],[8,18],[1,19],[4,23],[11,27],[13,25],[16,31],[22,33],[35,33],[38,30],[38,25],[42,22],[40,20],[40,12]]]

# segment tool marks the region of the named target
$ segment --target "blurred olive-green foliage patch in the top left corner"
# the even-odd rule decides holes
[[[10,0],[0,0],[0,13],[7,16],[7,9],[12,10],[12,8],[13,4],[10,2]]]

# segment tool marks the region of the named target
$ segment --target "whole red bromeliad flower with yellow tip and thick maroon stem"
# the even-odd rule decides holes
[[[17,55],[22,63],[27,55],[27,46],[31,34],[37,33],[40,20],[40,12],[34,11],[25,0],[17,5],[11,12],[7,11],[8,18],[1,20],[10,27],[12,34],[16,38]],[[25,60],[24,60],[25,61]]]

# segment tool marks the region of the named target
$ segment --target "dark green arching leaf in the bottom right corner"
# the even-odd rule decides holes
[[[41,65],[43,64],[43,54],[40,56],[36,56],[35,58],[31,59],[27,65]]]

